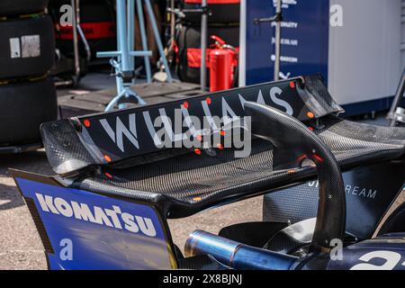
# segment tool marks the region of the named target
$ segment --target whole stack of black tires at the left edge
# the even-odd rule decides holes
[[[55,59],[49,0],[0,1],[0,146],[40,141],[40,124],[58,116],[49,70]]]

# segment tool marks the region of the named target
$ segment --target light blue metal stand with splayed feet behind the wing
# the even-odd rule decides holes
[[[139,30],[142,42],[142,50],[136,51],[134,49],[134,23],[135,23],[135,1],[136,10],[139,19]],[[149,57],[152,51],[148,50],[148,38],[146,34],[145,21],[143,15],[143,3],[146,5],[148,13],[148,20],[152,26],[152,30],[157,42],[157,49],[159,51],[160,59],[165,67],[167,82],[173,81],[170,68],[167,63],[166,55],[160,40],[159,31],[157,30],[157,23],[155,15],[153,14],[152,5],[149,0],[117,0],[117,51],[97,52],[98,58],[112,58],[110,63],[115,69],[115,77],[117,84],[117,95],[107,105],[105,111],[112,111],[116,105],[119,109],[125,108],[125,103],[139,103],[140,105],[147,104],[139,94],[136,94],[130,89],[130,85],[135,78],[135,57],[143,57],[145,60],[145,68],[147,72],[147,81],[151,83],[151,68]],[[118,58],[118,59],[115,59]]]

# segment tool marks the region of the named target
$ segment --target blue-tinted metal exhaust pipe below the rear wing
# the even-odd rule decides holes
[[[291,270],[298,257],[247,246],[211,233],[195,230],[187,238],[185,257],[211,255],[225,266],[238,270]]]

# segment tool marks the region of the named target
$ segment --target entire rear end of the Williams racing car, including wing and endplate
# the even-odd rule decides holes
[[[404,206],[382,220],[403,187],[405,130],[340,112],[320,76],[303,76],[53,121],[41,135],[58,175],[12,173],[50,269],[361,269],[381,251],[399,257],[382,268],[404,269]],[[350,197],[349,180],[374,201]],[[262,194],[265,221],[195,231],[185,257],[175,247],[167,219]]]

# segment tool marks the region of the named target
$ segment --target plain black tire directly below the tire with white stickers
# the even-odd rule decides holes
[[[40,124],[57,115],[52,79],[0,85],[0,146],[40,141]]]

